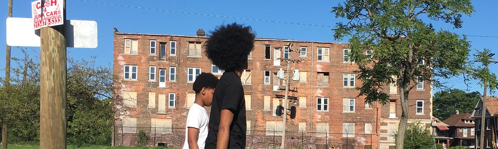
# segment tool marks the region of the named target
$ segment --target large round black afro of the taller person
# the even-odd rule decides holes
[[[220,25],[210,32],[206,41],[208,58],[221,70],[240,71],[247,67],[249,53],[254,47],[255,33],[250,26],[236,22]]]

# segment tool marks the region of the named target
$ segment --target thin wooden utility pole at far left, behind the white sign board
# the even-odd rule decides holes
[[[8,0],[8,16],[12,17],[12,0]],[[10,84],[10,46],[7,45],[5,48],[5,79],[3,86]],[[7,91],[5,91],[7,92]],[[3,99],[8,100],[8,99]],[[7,123],[3,122],[1,125],[1,149],[7,149]]]

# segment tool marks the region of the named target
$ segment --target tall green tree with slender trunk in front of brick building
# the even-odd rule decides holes
[[[348,20],[336,24],[334,38],[351,37],[346,60],[359,66],[359,96],[366,96],[367,103],[385,104],[389,94],[382,87],[395,83],[399,88],[402,113],[397,134],[402,137],[396,138],[396,149],[403,148],[410,90],[422,80],[441,87],[444,84],[434,78],[450,78],[469,68],[466,36],[436,31],[426,21],[461,28],[462,14],[473,12],[470,0],[345,0],[332,8],[336,17]]]

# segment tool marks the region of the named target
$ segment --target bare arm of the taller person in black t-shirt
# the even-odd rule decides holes
[[[234,113],[229,109],[221,110],[220,126],[218,129],[218,142],[216,149],[228,149],[228,141],[230,139],[230,125],[234,119]]]

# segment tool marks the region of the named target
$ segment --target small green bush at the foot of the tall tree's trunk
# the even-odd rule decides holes
[[[433,149],[434,140],[430,129],[430,126],[418,122],[408,124],[403,149]]]

